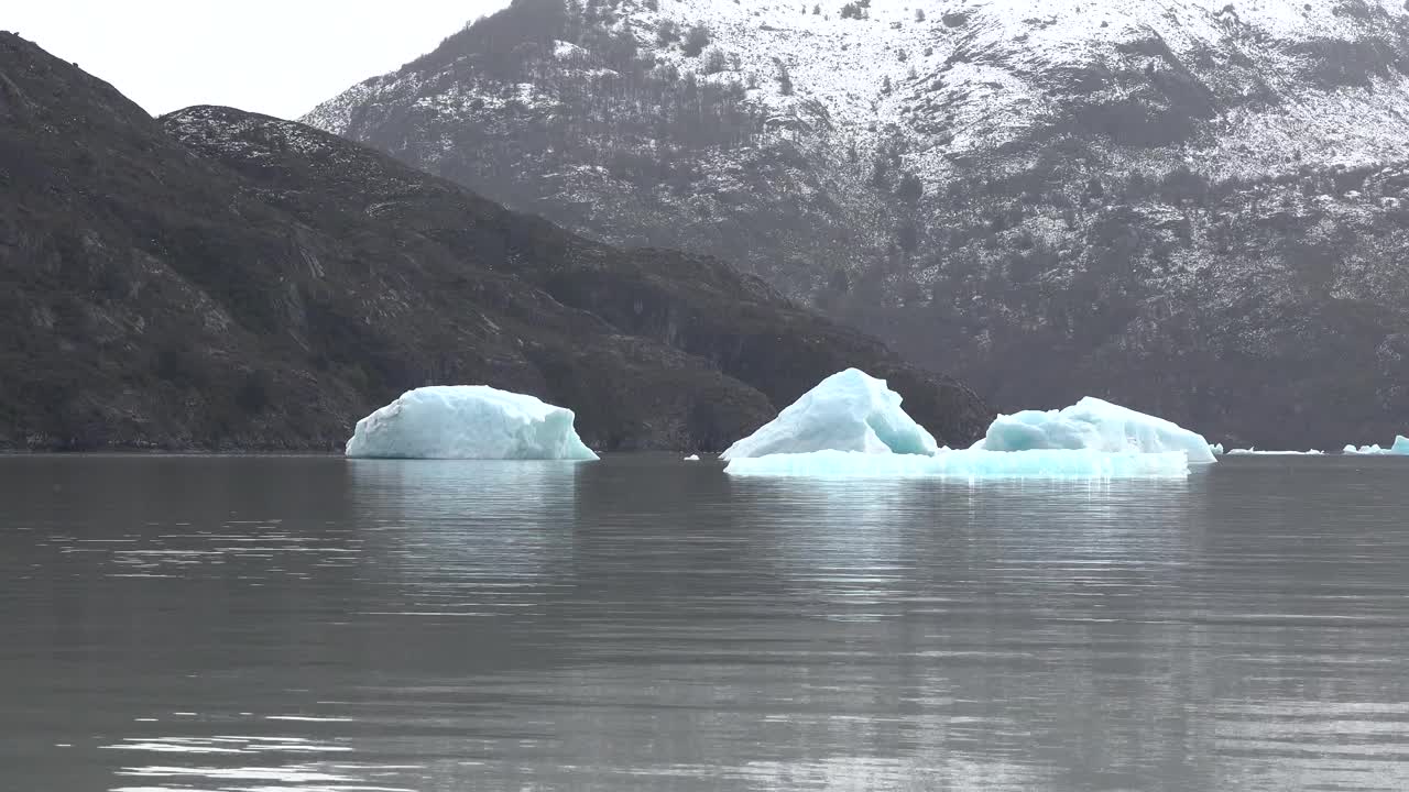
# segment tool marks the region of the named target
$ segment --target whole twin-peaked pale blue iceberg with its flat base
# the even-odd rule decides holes
[[[824,379],[724,455],[734,476],[1185,478],[1216,462],[1174,423],[1100,399],[1000,416],[969,450],[938,448],[885,380],[857,369]]]

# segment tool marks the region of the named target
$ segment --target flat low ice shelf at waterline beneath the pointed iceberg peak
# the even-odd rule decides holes
[[[933,457],[814,451],[734,459],[734,476],[952,479],[1171,479],[1189,475],[1184,451],[940,451]]]

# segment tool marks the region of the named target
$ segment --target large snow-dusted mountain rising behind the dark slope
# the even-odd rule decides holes
[[[306,120],[720,255],[1002,409],[1409,423],[1399,0],[517,0]]]

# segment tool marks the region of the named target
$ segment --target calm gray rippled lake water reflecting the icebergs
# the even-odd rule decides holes
[[[0,459],[0,791],[1409,789],[1409,461]]]

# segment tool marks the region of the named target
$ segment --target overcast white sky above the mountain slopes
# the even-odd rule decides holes
[[[154,116],[228,104],[296,118],[509,0],[6,0],[11,30]]]

